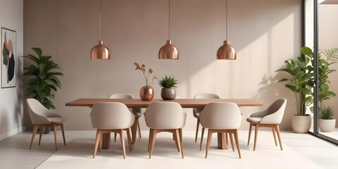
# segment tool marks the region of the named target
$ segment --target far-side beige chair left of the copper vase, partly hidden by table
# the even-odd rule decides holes
[[[134,99],[134,96],[132,94],[124,94],[124,93],[116,93],[111,94],[111,96],[108,97],[108,99]],[[137,125],[137,131],[139,132],[139,139],[142,138],[141,135],[141,128],[139,127],[139,118],[142,116],[141,108],[129,108],[129,110],[134,113],[135,115],[135,123]],[[116,134],[114,134],[114,140],[116,142]]]

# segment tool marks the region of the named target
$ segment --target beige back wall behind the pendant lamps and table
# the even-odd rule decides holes
[[[171,1],[170,39],[180,50],[180,60],[158,60],[158,50],[168,39],[168,1],[103,1],[102,39],[111,49],[110,61],[90,60],[99,40],[99,1],[24,1],[25,54],[42,47],[60,65],[62,89],[56,93],[56,111],[67,118],[66,130],[92,130],[89,108],[66,107],[77,98],[106,98],[128,92],[139,97],[144,86],[134,62],[153,68],[163,77],[178,80],[177,95],[212,92],[222,98],[252,98],[271,104],[288,99],[282,130],[291,130],[294,95],[278,83],[284,60],[299,56],[301,47],[301,1],[229,1],[228,39],[237,50],[236,61],[216,61],[215,53],[225,39],[225,1]],[[29,63],[25,61],[25,66]],[[160,87],[152,84],[155,97]],[[243,107],[245,119],[261,108]],[[194,130],[196,119],[187,108],[185,130]],[[27,114],[27,112],[26,112]],[[141,119],[142,130],[147,130]],[[25,125],[29,125],[25,118]]]

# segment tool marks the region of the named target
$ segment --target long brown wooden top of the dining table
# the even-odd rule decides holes
[[[152,99],[151,101],[142,101],[141,99],[75,99],[65,104],[65,106],[88,106],[92,107],[99,102],[120,102],[125,104],[129,108],[146,108],[149,104],[156,101],[176,102],[180,104],[182,108],[203,108],[207,104],[213,102],[232,102],[237,106],[263,106],[261,101],[255,99]]]

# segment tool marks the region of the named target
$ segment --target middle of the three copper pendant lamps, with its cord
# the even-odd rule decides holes
[[[160,51],[158,51],[159,59],[179,59],[180,53],[176,46],[171,44],[170,40],[170,0],[169,0],[169,40],[167,40],[166,44],[161,47]]]

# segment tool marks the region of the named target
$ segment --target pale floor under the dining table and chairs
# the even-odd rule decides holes
[[[0,141],[0,168],[337,168],[338,147],[310,134],[282,132],[283,151],[276,147],[270,131],[260,131],[256,151],[253,143],[246,146],[248,131],[239,131],[239,146],[242,159],[237,150],[215,149],[216,135],[213,135],[208,158],[204,158],[205,141],[202,151],[194,143],[194,131],[183,131],[184,159],[175,149],[172,136],[158,134],[151,159],[146,151],[147,131],[142,131],[141,141],[136,142],[132,153],[127,151],[123,159],[120,143],[113,143],[109,150],[92,158],[94,131],[66,131],[68,142],[63,146],[58,132],[58,151],[54,147],[54,134],[44,134],[42,144],[37,145],[36,137],[29,150],[32,132],[21,132]],[[206,139],[204,139],[206,140]],[[251,136],[253,140],[253,135]],[[126,145],[126,149],[127,145]],[[177,167],[178,166],[178,167]]]

